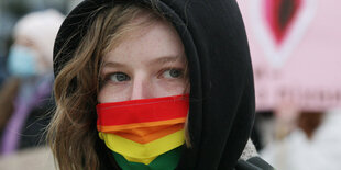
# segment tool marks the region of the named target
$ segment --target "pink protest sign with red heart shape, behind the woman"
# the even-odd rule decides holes
[[[250,42],[256,109],[341,106],[341,1],[238,2]]]

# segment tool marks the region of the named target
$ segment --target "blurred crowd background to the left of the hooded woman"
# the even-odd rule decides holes
[[[53,44],[73,0],[0,1],[0,169],[55,169],[44,131],[53,113]]]

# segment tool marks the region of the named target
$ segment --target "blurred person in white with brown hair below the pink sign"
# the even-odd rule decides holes
[[[278,169],[341,168],[341,109],[304,112],[287,105],[275,115],[274,139],[261,151],[265,160]]]

